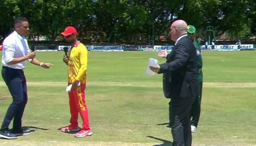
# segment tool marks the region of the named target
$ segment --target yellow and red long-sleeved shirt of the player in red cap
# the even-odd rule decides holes
[[[74,80],[80,81],[81,84],[86,84],[86,72],[88,51],[86,46],[80,42],[76,42],[73,48],[68,51],[68,82],[72,83]]]

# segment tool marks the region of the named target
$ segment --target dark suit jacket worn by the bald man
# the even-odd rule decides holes
[[[195,97],[199,95],[196,48],[188,37],[181,38],[159,65],[163,73],[163,93],[166,98]]]

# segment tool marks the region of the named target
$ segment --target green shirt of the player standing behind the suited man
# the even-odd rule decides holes
[[[203,61],[202,61],[200,45],[195,40],[193,41],[193,44],[196,47],[196,67],[199,69],[198,80],[199,82],[203,82],[203,72],[202,72]]]

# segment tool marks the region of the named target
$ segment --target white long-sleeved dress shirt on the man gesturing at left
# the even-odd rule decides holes
[[[16,31],[12,32],[3,42],[3,56],[2,65],[14,69],[25,69],[25,62],[20,62],[14,65],[7,65],[8,62],[12,61],[14,58],[20,58],[29,53],[29,46],[27,44],[27,39],[21,37]],[[27,61],[31,61],[28,59]]]

